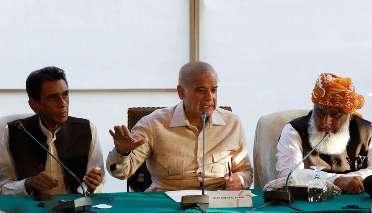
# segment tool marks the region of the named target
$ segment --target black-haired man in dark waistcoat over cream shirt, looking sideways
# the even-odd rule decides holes
[[[36,114],[19,121],[87,184],[90,193],[103,192],[105,174],[97,129],[89,120],[68,116],[65,72],[57,67],[33,71],[27,77],[26,90]],[[0,194],[77,193],[77,180],[15,123],[8,123],[1,140]]]

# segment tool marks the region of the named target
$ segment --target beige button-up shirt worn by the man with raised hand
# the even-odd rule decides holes
[[[116,178],[130,177],[146,160],[153,183],[146,191],[200,189],[203,168],[203,131],[189,124],[183,101],[158,109],[143,117],[132,128],[135,141],[146,137],[148,143],[128,156],[115,147],[106,166]],[[205,124],[205,188],[225,189],[224,175],[237,173],[243,188],[252,183],[253,169],[247,153],[243,125],[237,115],[216,108]],[[116,163],[116,170],[110,165]]]

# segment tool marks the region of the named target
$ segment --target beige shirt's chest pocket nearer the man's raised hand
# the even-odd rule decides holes
[[[164,170],[164,173],[167,175],[168,179],[179,179],[178,176],[182,177],[185,159],[158,155],[157,162],[161,165],[162,170]]]

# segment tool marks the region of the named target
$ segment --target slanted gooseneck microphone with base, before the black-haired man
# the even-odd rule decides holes
[[[83,196],[84,197],[80,197],[80,198],[76,198],[74,200],[68,200],[68,201],[65,201],[65,202],[62,202],[60,204],[57,204],[56,206],[53,207],[53,211],[57,211],[57,212],[80,212],[80,211],[83,211],[83,210],[89,210],[90,211],[90,207],[92,206],[92,199],[90,197],[87,197],[86,193],[85,193],[85,190],[84,190],[84,187],[83,187],[83,184],[81,184],[81,182],[79,181],[79,179],[76,177],[76,175],[74,173],[72,173],[70,171],[70,169],[68,169],[60,160],[58,160],[51,152],[49,152],[49,150],[47,148],[45,148],[38,140],[35,139],[35,137],[32,136],[32,134],[30,134],[26,129],[25,127],[23,127],[23,124],[22,122],[20,121],[17,121],[16,122],[16,127],[19,128],[20,130],[22,130],[23,132],[25,132],[29,137],[31,137],[32,140],[34,140],[36,143],[38,143],[47,153],[49,153],[50,156],[52,156],[52,158],[54,158],[55,160],[57,160],[57,162],[59,164],[61,164],[61,166],[63,166],[64,169],[66,169],[66,171],[72,175],[76,180],[77,182],[80,184],[81,186],[81,189],[83,189]]]

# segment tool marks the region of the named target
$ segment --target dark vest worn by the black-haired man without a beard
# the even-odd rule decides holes
[[[39,128],[39,116],[33,115],[22,122],[26,130],[32,134],[47,149],[47,136]],[[16,121],[8,123],[9,150],[12,155],[18,179],[25,179],[44,171],[47,162],[47,152],[33,141],[25,132],[15,126]],[[89,120],[68,117],[56,134],[55,147],[61,162],[83,182],[88,164],[92,132]],[[80,186],[76,179],[65,170],[66,184],[70,185],[72,193],[77,193]]]

